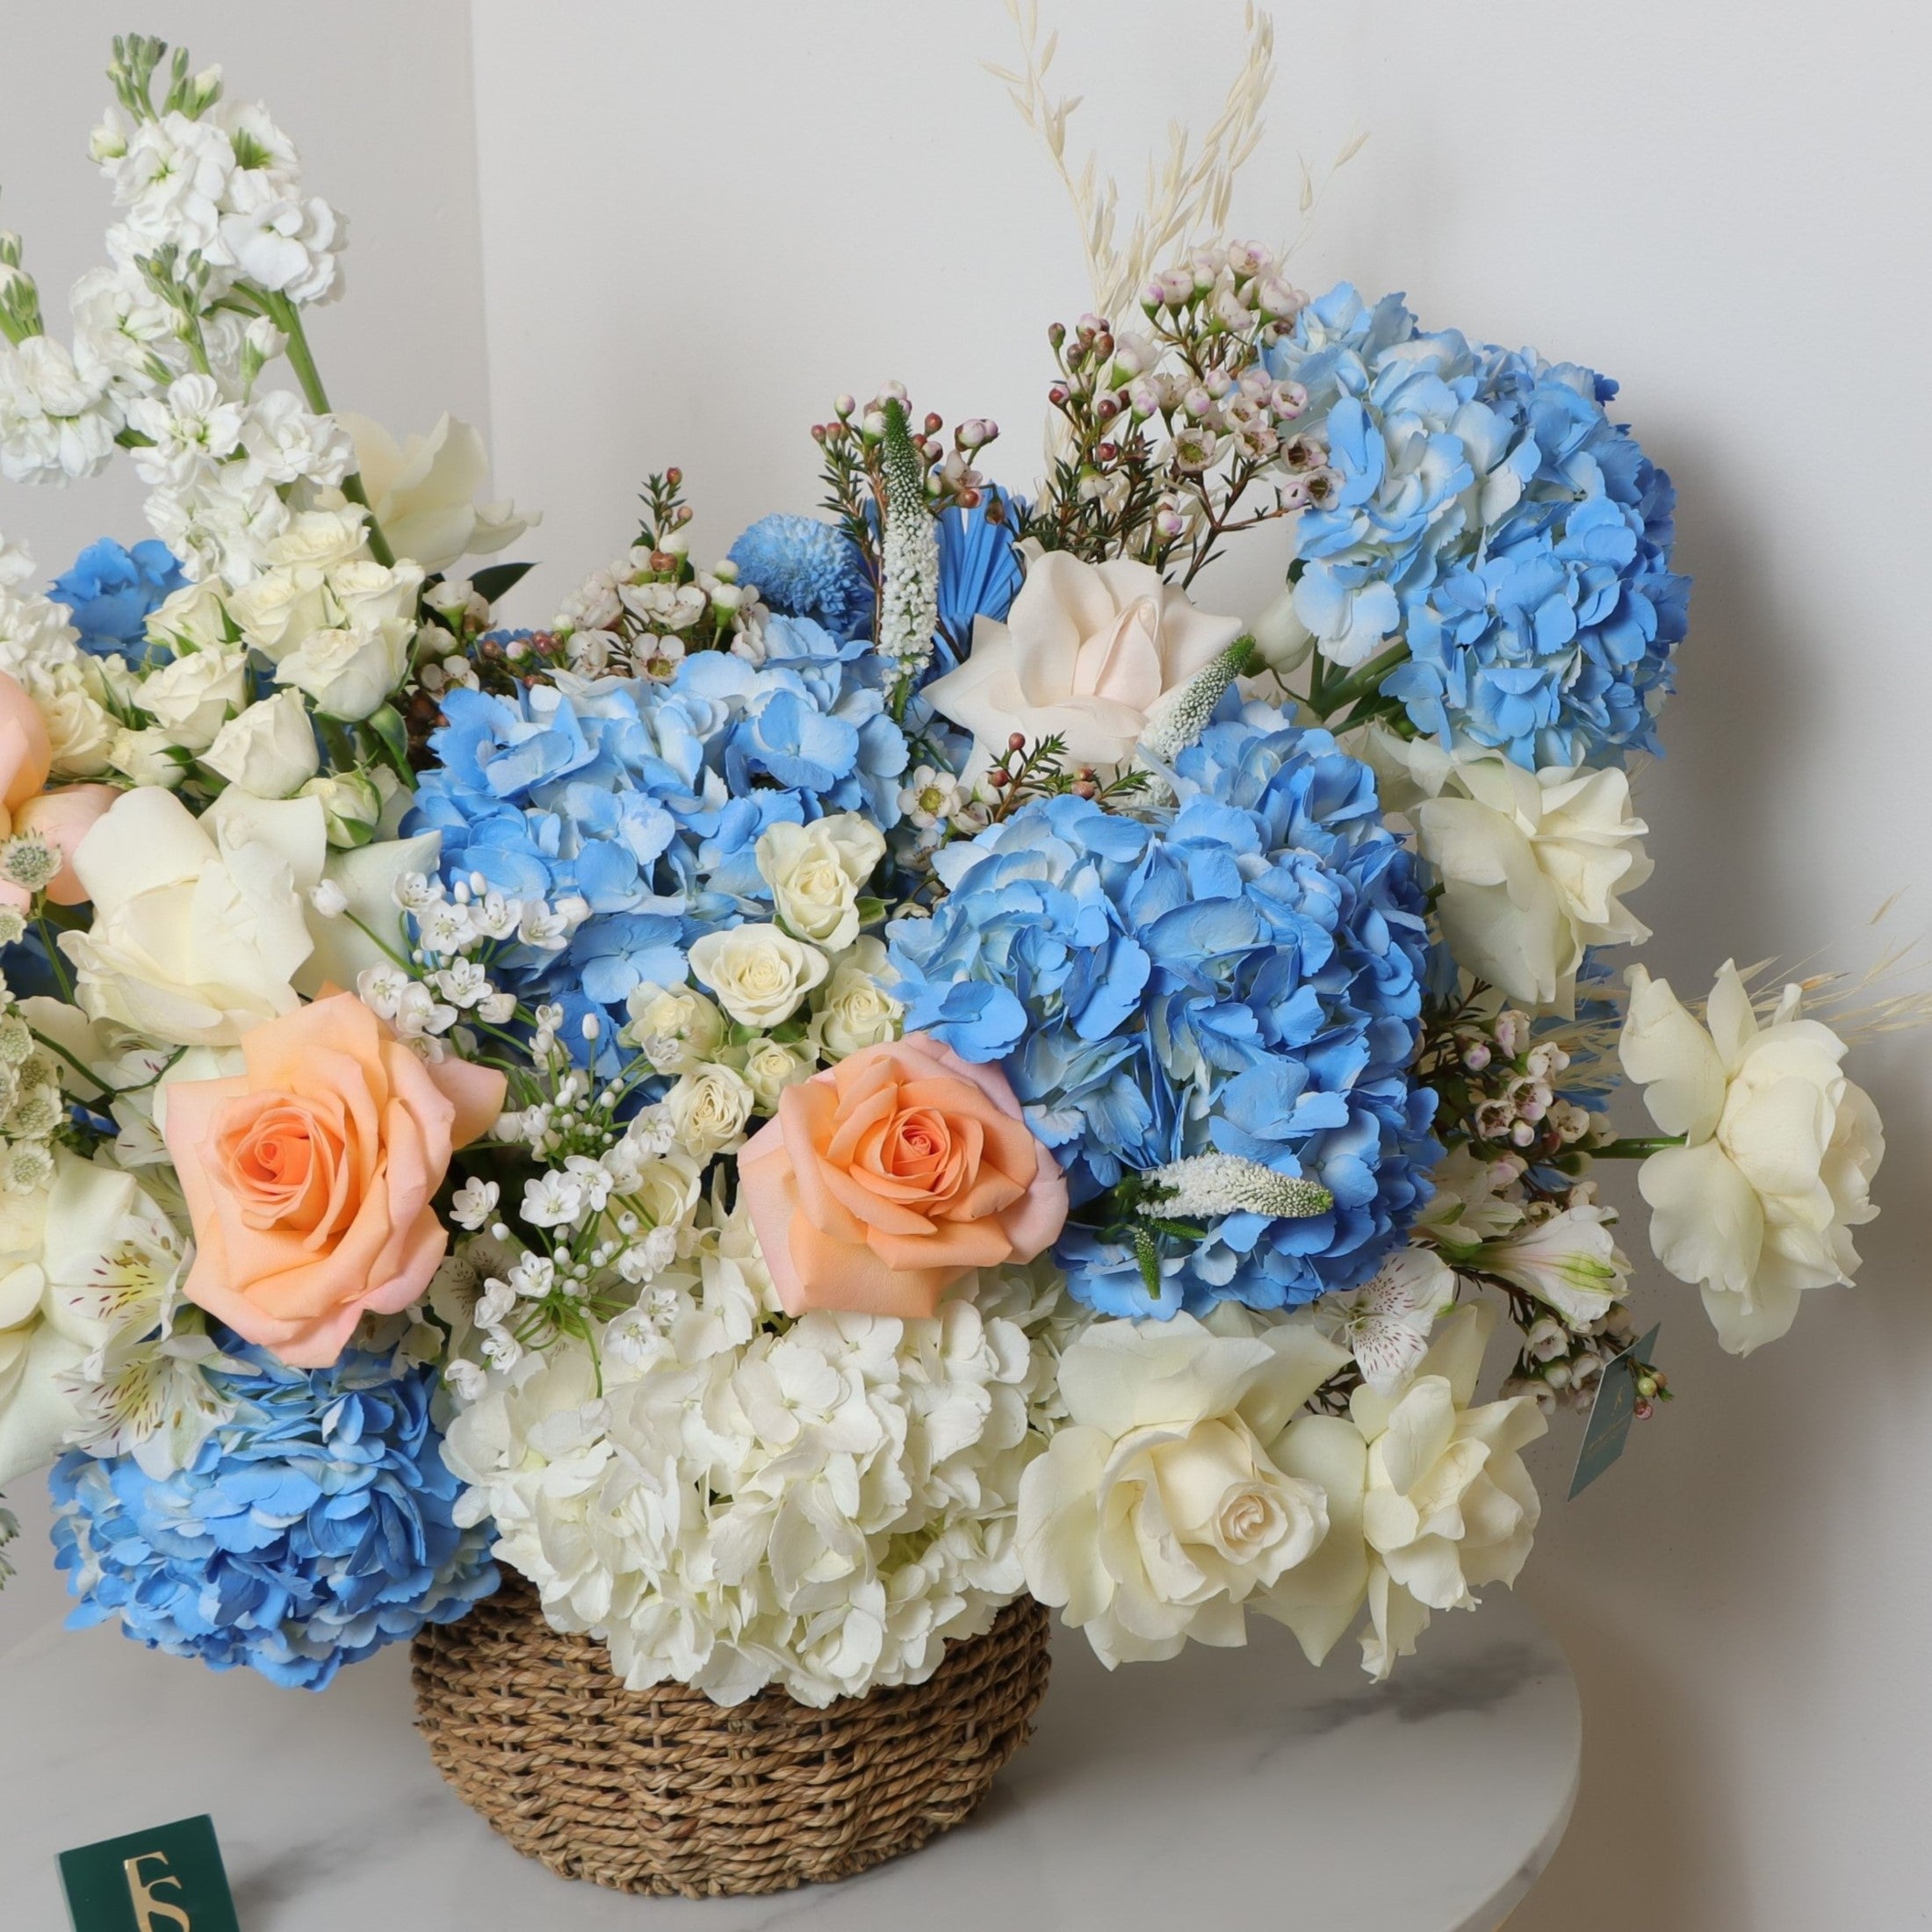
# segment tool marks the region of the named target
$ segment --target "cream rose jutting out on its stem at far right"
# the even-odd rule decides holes
[[[1683,1148],[1638,1171],[1650,1246],[1704,1291],[1733,1354],[1783,1335],[1806,1289],[1851,1281],[1851,1229],[1870,1221],[1872,1175],[1886,1155],[1878,1109],[1839,1068],[1845,1041],[1803,1016],[1787,985],[1760,1022],[1737,966],[1718,972],[1704,1024],[1667,980],[1629,972],[1623,1070]]]

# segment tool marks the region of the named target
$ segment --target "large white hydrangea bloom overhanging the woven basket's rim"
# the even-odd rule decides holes
[[[1061,1416],[1086,1318],[1051,1269],[968,1277],[933,1320],[779,1320],[750,1221],[589,1339],[458,1393],[460,1522],[630,1689],[823,1708],[922,1683],[1024,1588],[1020,1474]]]

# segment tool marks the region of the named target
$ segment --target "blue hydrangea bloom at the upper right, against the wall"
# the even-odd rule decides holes
[[[1331,657],[1406,639],[1381,690],[1519,765],[1658,750],[1690,583],[1669,477],[1605,415],[1615,383],[1420,330],[1399,296],[1368,307],[1347,284],[1269,367],[1306,386],[1341,479],[1300,520],[1294,587]]]

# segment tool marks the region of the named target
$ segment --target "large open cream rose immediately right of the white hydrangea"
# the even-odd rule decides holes
[[[1244,1605],[1327,1536],[1321,1486],[1271,1445],[1347,1360],[1302,1320],[1095,1321],[1061,1356],[1066,1426],[1020,1478],[1026,1586],[1109,1669],[1244,1642]]]

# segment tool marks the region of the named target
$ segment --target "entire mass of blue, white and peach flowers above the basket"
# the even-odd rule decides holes
[[[527,628],[475,433],[330,410],[290,139],[116,43],[71,340],[0,238],[0,471],[151,489],[46,591],[0,551],[0,1478],[81,1621],[319,1689],[506,1567],[723,1704],[1022,1594],[1381,1677],[1634,1343],[1598,1163],[1735,1352],[1853,1275],[1833,985],[1623,960],[1671,483],[1607,379],[1208,234],[1258,35],[1090,222],[1045,477],[842,396],[823,516],[697,568],[651,475]]]

